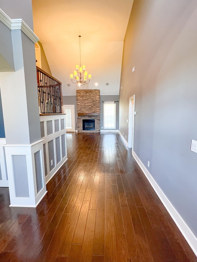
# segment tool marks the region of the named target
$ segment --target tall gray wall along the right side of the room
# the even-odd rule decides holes
[[[196,17],[196,1],[134,0],[119,96],[120,131],[135,94],[134,151],[197,237]]]

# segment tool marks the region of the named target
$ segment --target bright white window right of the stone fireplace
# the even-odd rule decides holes
[[[116,128],[116,104],[114,102],[105,102],[103,104],[103,128]]]

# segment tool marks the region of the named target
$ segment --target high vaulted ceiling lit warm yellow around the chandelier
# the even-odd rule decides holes
[[[92,75],[90,83],[81,88],[100,89],[101,95],[119,94],[123,41],[132,4],[133,0],[32,0],[34,32],[52,75],[62,82],[63,96],[75,96],[79,89],[70,79],[80,62],[78,35],[82,65]]]

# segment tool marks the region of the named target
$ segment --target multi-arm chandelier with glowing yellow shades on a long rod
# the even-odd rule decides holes
[[[79,37],[79,50],[80,50],[80,66],[79,65],[76,65],[76,71],[74,71],[74,78],[76,80],[76,82],[73,82],[73,74],[70,74],[70,78],[71,78],[71,81],[73,84],[77,84],[79,86],[82,86],[82,84],[88,84],[90,82],[90,79],[91,79],[91,75],[88,75],[88,79],[89,81],[87,81],[87,71],[86,70],[86,67],[85,65],[82,65],[81,66],[81,43],[80,43],[80,37],[81,36],[78,36]],[[82,76],[82,74],[84,74]]]

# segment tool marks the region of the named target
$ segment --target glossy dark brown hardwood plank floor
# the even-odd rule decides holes
[[[67,134],[36,208],[0,188],[0,261],[189,262],[196,256],[118,134]]]

